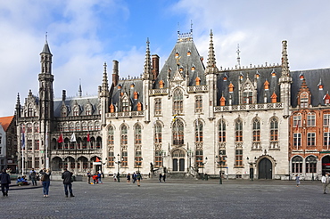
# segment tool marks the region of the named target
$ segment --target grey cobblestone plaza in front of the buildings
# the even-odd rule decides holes
[[[65,198],[60,181],[49,197],[42,188],[12,187],[1,197],[0,218],[329,218],[329,194],[322,184],[294,181],[124,179],[103,184],[74,182],[76,197]],[[29,186],[32,188],[32,186]]]

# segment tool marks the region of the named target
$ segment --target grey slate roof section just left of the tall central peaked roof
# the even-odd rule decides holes
[[[131,85],[134,87],[131,87]],[[119,89],[119,85],[121,88]],[[134,92],[137,92],[137,100],[134,99]],[[110,105],[113,104],[115,107],[119,107],[120,103],[120,93],[128,93],[130,104],[131,104],[131,111],[137,111],[137,102],[143,102],[143,81],[139,78],[134,79],[125,79],[119,80],[118,85],[113,87],[113,91],[111,93],[111,100]],[[144,109],[144,105],[143,105]]]

